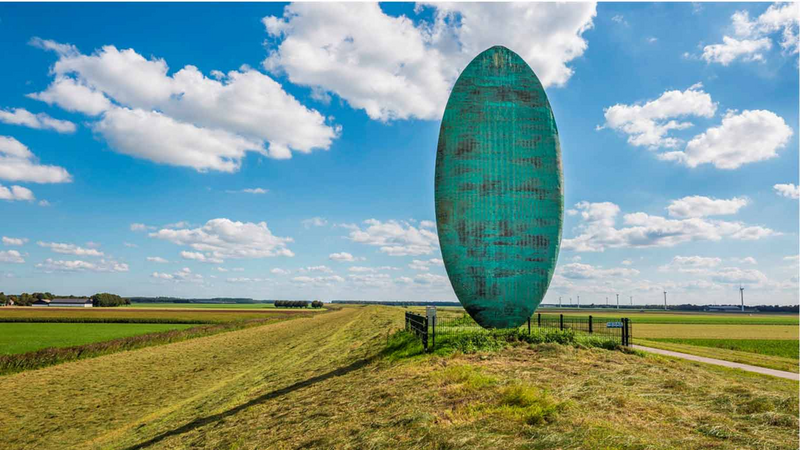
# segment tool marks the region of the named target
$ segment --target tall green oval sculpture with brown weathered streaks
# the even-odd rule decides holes
[[[487,328],[524,323],[558,259],[561,150],[539,79],[505,47],[458,78],[439,131],[436,222],[459,301]]]

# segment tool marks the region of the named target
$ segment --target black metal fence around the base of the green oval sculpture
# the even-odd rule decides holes
[[[632,324],[630,319],[593,317],[593,316],[565,316],[563,314],[534,314],[522,325],[524,330],[572,330],[575,333],[597,336],[616,342],[622,346],[631,344]],[[406,330],[416,334],[422,339],[425,350],[428,349],[430,338],[431,347],[435,347],[436,336],[452,336],[469,332],[484,332],[467,314],[461,316],[441,315],[434,320],[419,314],[406,312]]]

